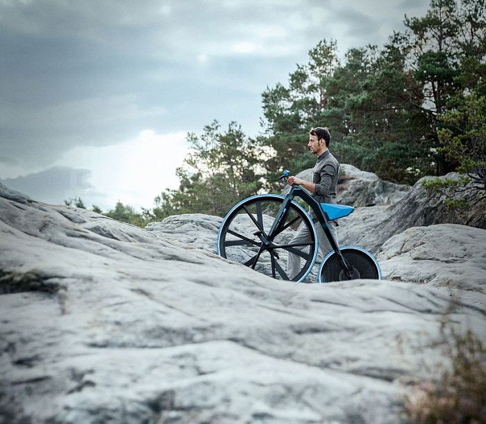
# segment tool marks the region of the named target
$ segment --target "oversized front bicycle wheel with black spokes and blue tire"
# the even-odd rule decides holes
[[[274,238],[267,239],[284,199],[280,195],[255,195],[236,204],[219,227],[217,254],[275,279],[303,281],[319,251],[317,231],[305,209],[296,202],[290,202],[285,211],[287,216],[280,222]],[[310,241],[305,245],[292,245],[290,240],[300,225],[308,227]],[[287,275],[288,252],[303,259],[299,272],[292,279]]]

